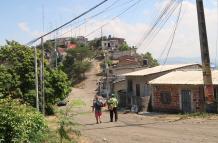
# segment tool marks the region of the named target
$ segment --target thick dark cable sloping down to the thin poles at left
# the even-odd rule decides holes
[[[55,28],[54,30],[52,30],[52,31],[50,31],[50,32],[48,32],[48,33],[46,33],[46,34],[44,34],[44,35],[42,35],[42,36],[40,36],[40,37],[38,37],[38,38],[36,38],[36,39],[30,41],[30,42],[28,42],[27,45],[31,45],[31,44],[35,43],[36,41],[38,41],[39,39],[41,39],[41,38],[43,38],[43,37],[45,37],[45,36],[47,36],[47,35],[49,35],[49,34],[51,34],[51,33],[53,33],[53,32],[55,32],[55,31],[57,31],[57,30],[59,30],[59,29],[65,27],[66,25],[68,25],[68,24],[72,23],[73,21],[79,19],[80,17],[86,15],[87,13],[91,12],[92,10],[96,9],[97,7],[99,7],[100,5],[104,4],[104,3],[107,2],[107,1],[108,1],[108,0],[103,0],[103,1],[100,2],[99,4],[95,5],[94,7],[90,8],[89,10],[83,12],[83,13],[80,14],[79,16],[73,18],[72,20],[66,22],[65,24],[63,24],[63,25],[61,25],[61,26]]]

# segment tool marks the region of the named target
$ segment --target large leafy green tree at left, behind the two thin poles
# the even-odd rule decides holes
[[[39,55],[38,51],[38,59]],[[0,95],[20,99],[35,107],[34,50],[15,41],[7,41],[0,49],[0,63]],[[46,105],[54,104],[68,95],[70,84],[64,72],[50,69],[47,61],[44,64]]]

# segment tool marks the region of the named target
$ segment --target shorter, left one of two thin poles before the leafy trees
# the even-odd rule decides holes
[[[36,109],[39,111],[39,88],[38,88],[38,69],[37,69],[37,49],[34,46],[34,62],[35,62],[35,88],[36,88]]]

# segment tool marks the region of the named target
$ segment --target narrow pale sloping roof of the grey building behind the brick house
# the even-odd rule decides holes
[[[139,70],[139,71],[135,71],[131,73],[126,73],[126,74],[123,74],[122,76],[145,76],[145,75],[160,73],[164,71],[170,71],[173,69],[178,69],[178,68],[192,66],[192,65],[199,65],[199,64],[160,65],[160,66],[156,66],[153,68],[147,68],[147,69],[143,69],[143,70]]]

